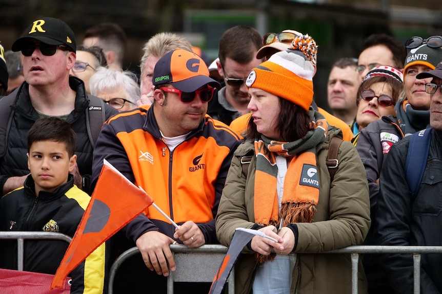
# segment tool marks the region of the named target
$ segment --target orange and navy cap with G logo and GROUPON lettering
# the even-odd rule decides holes
[[[209,70],[203,59],[183,49],[175,49],[158,60],[153,70],[152,83],[171,83],[178,90],[188,93],[204,85],[218,89],[221,87],[209,77]]]

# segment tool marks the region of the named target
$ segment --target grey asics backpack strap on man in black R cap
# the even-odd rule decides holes
[[[89,107],[86,108],[86,128],[88,130],[89,141],[92,146],[97,142],[104,122],[106,121],[105,103],[101,98],[88,95]]]

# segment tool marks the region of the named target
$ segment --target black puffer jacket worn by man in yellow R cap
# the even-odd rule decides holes
[[[76,133],[75,154],[77,154],[78,170],[84,177],[90,177],[92,173],[92,151],[93,146],[89,140],[86,126],[86,109],[89,106],[89,98],[86,94],[85,85],[82,80],[70,77],[70,87],[76,92],[75,109],[66,119]],[[17,92],[11,109],[14,112],[11,128],[6,145],[6,153],[0,159],[0,191],[8,177],[23,176],[29,173],[27,163],[27,135],[39,115],[31,104],[29,98],[29,84],[23,82]],[[106,119],[117,113],[117,110],[105,105]],[[96,110],[101,111],[101,110]],[[91,126],[101,127],[101,126]],[[0,142],[5,144],[5,142]]]

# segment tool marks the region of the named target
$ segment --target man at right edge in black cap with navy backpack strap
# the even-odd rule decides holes
[[[375,217],[379,245],[442,245],[442,63],[417,79],[430,79],[430,126],[393,144],[379,178]],[[396,293],[413,291],[411,254],[383,255],[388,281]],[[420,292],[442,292],[442,255],[424,254]]]

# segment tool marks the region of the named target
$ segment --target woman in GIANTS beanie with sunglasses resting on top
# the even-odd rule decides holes
[[[430,95],[425,92],[425,84],[429,83],[431,78],[416,79],[416,75],[435,69],[437,63],[442,60],[440,46],[440,36],[425,40],[413,37],[407,41],[406,48],[409,53],[404,64],[404,89],[394,106],[394,113],[368,125],[361,130],[357,139],[356,149],[365,166],[370,189],[371,228],[375,226],[379,174],[390,147],[407,135],[425,129],[430,122]],[[372,230],[369,231],[364,244],[376,244]],[[370,293],[393,292],[376,255],[365,256],[364,268]]]

